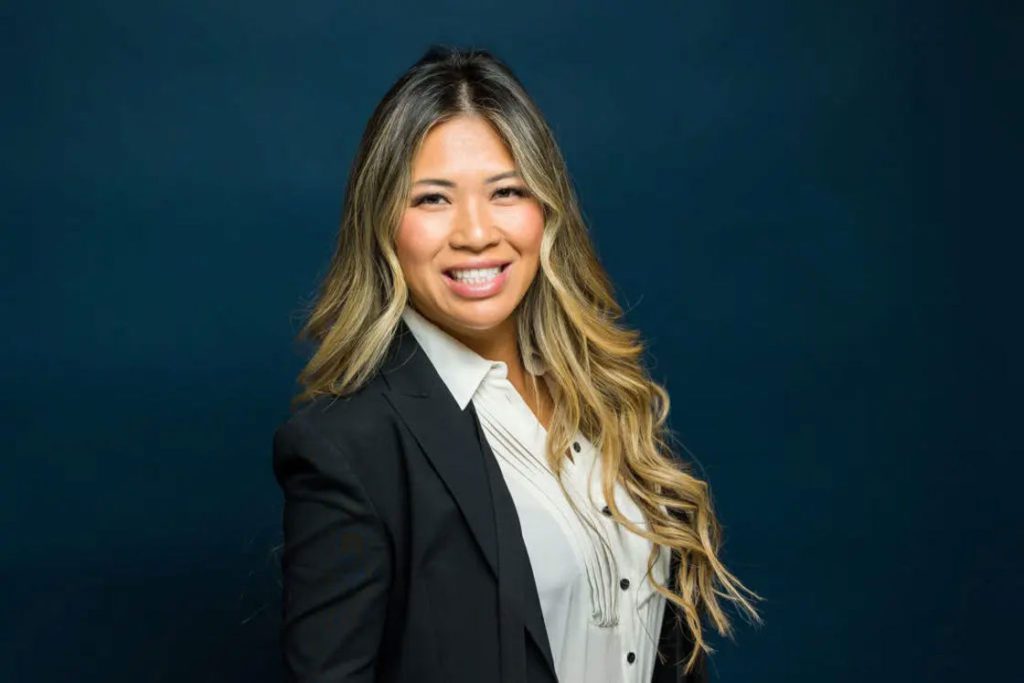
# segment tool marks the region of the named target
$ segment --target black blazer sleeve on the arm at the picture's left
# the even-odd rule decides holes
[[[345,455],[301,415],[273,435],[284,493],[281,647],[293,683],[372,683],[389,537]]]

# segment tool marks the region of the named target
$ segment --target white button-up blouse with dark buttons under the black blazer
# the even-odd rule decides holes
[[[515,503],[560,683],[650,681],[666,598],[644,575],[651,543],[602,514],[600,454],[577,433],[562,474],[577,514],[547,464],[547,431],[509,382],[508,366],[480,356],[411,305],[402,319],[459,408],[473,401]],[[524,356],[523,366],[557,395],[541,358]],[[614,492],[620,510],[647,528],[617,482]],[[662,548],[652,569],[662,584],[670,561]]]

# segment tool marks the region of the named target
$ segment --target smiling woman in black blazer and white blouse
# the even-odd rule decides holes
[[[701,618],[759,596],[621,314],[522,85],[429,50],[365,131],[274,434],[292,680],[706,680]]]

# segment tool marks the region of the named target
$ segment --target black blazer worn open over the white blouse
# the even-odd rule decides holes
[[[518,515],[473,403],[459,410],[403,321],[367,386],[316,398],[276,429],[273,472],[289,680],[557,680]],[[673,664],[690,639],[666,605],[668,660],[652,681],[703,682],[703,655],[689,677]]]

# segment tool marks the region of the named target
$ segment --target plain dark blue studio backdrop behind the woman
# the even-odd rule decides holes
[[[431,42],[549,118],[767,598],[715,680],[1015,678],[1021,12],[962,4],[5,4],[3,678],[282,679],[293,336]]]

